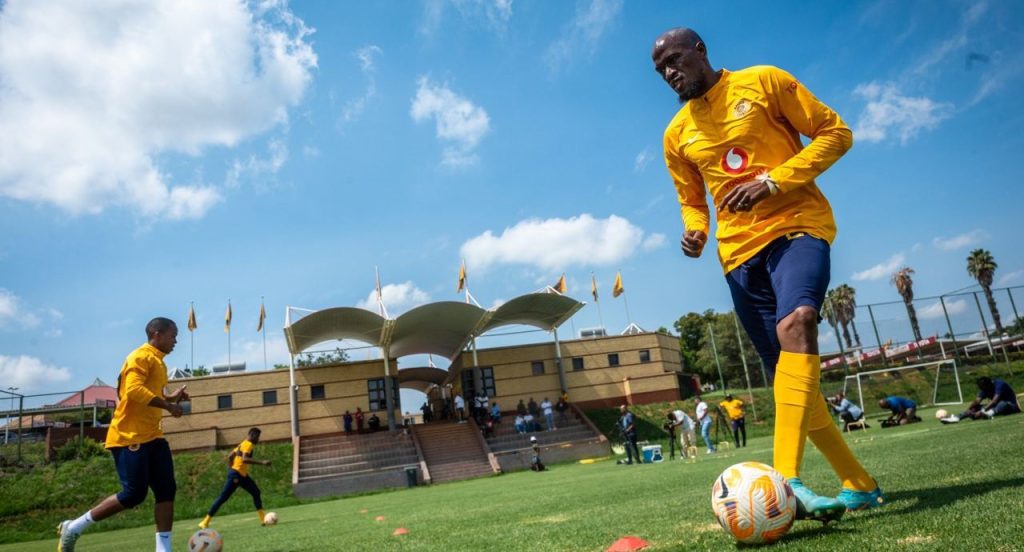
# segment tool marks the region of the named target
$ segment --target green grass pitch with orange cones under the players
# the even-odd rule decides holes
[[[1024,416],[942,426],[925,422],[848,436],[889,495],[890,504],[847,514],[839,523],[797,522],[779,550],[1018,550],[1024,548]],[[498,477],[274,508],[281,522],[260,527],[253,513],[217,517],[225,550],[545,550],[601,551],[623,536],[649,550],[735,548],[715,522],[712,481],[743,460],[770,462],[770,437],[695,464],[552,466],[546,473]],[[838,482],[808,445],[804,480],[835,493]],[[213,497],[217,490],[209,490]],[[248,501],[243,494],[232,501]],[[83,505],[85,507],[86,505]],[[366,513],[362,511],[366,510]],[[384,516],[377,521],[377,516]],[[56,524],[56,519],[53,520]],[[198,519],[175,523],[184,550]],[[392,536],[397,527],[409,534]],[[51,551],[55,539],[0,546],[0,552]],[[80,552],[148,550],[152,526],[86,533]]]

